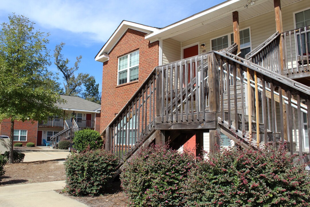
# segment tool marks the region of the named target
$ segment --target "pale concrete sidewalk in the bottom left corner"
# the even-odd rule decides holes
[[[87,207],[54,191],[64,186],[64,181],[3,186],[0,187],[0,207]]]

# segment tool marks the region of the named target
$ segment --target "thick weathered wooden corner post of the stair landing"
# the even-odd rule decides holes
[[[219,66],[215,54],[209,53],[207,54],[208,57],[208,67],[209,67],[209,99],[210,99],[210,112],[220,112],[219,106]],[[218,117],[216,113],[216,118]],[[218,121],[216,121],[216,126],[218,126]],[[217,129],[210,129],[210,154],[214,154],[216,152],[216,143],[219,143],[219,135],[220,130]]]

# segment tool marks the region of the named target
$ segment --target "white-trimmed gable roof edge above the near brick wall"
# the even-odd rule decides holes
[[[146,25],[141,25],[135,22],[130,22],[123,20],[121,24],[117,27],[117,29],[114,31],[112,36],[108,39],[108,41],[104,44],[104,46],[101,48],[101,50],[97,53],[95,56],[95,61],[99,62],[105,62],[109,60],[109,53],[111,52],[112,48],[115,46],[115,44],[118,42],[118,40],[123,36],[123,34],[126,32],[127,29],[135,29],[140,32],[144,33],[150,33],[158,30],[159,28],[156,27],[150,27]]]

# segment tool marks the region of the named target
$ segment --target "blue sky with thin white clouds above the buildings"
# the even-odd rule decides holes
[[[95,55],[122,20],[165,27],[221,2],[224,0],[2,0],[0,22],[8,22],[12,12],[27,16],[36,29],[50,32],[51,56],[60,42],[66,43],[62,53],[71,61],[69,67],[82,55],[79,72],[95,76],[101,91],[102,63],[95,61]],[[57,71],[54,64],[49,69]]]

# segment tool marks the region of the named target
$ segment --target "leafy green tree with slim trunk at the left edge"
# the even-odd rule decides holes
[[[34,30],[34,22],[23,15],[10,15],[0,31],[0,120],[11,120],[9,163],[13,162],[15,120],[45,120],[62,115],[56,102],[64,102],[51,89],[52,73],[47,36]]]

